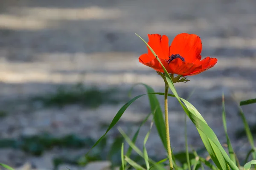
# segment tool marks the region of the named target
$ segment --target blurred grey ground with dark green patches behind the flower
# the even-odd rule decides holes
[[[136,83],[163,92],[163,81],[138,57],[147,51],[147,34],[198,34],[202,56],[217,65],[177,83],[181,97],[204,116],[220,142],[225,135],[221,94],[225,94],[227,128],[237,155],[250,145],[243,133],[233,96],[256,96],[255,0],[0,0],[0,162],[25,170],[69,167],[100,170],[118,164],[122,138],[116,127],[133,135],[150,113],[148,98],[137,100],[107,138],[84,157],[113,117],[131,97]],[[131,96],[146,93],[136,86]],[[163,97],[158,97],[163,103]],[[243,107],[256,129],[255,105]],[[169,99],[174,152],[184,151],[184,112]],[[190,120],[189,144],[203,147]],[[150,120],[141,128],[142,148]],[[110,147],[109,147],[110,146]],[[114,146],[114,147],[113,147]],[[152,158],[166,153],[152,129],[147,143]],[[134,157],[134,159],[136,156]],[[94,164],[90,161],[99,161]],[[98,168],[98,169],[97,169]]]

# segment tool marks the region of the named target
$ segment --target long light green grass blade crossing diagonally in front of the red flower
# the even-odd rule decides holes
[[[136,35],[138,37],[140,37],[138,34],[136,34]],[[141,38],[141,37],[140,37],[140,39],[143,40],[143,38]],[[195,124],[195,126],[199,129],[198,130],[199,134],[201,132],[204,133],[204,135],[203,134],[201,135],[201,139],[203,140],[203,142],[209,142],[211,144],[211,147],[209,147],[209,145],[206,145],[205,147],[207,148],[208,152],[210,151],[209,154],[212,154],[211,151],[213,151],[214,154],[212,154],[210,156],[212,157],[212,160],[215,162],[216,166],[221,170],[229,170],[229,167],[227,166],[227,164],[228,164],[232,170],[239,170],[239,168],[236,166],[236,164],[234,164],[234,162],[229,158],[229,156],[227,155],[227,153],[221,146],[220,142],[218,141],[217,136],[215,135],[213,130],[206,124],[206,122],[204,121],[202,116],[197,117],[197,115],[195,115],[195,112],[193,110],[189,109],[188,105],[186,105],[184,100],[183,100],[183,102],[185,103],[186,106],[183,105],[180,97],[177,94],[175,86],[172,82],[172,78],[170,77],[169,73],[166,71],[166,68],[163,66],[162,62],[157,57],[157,54],[148,45],[148,43],[145,42],[145,40],[143,40],[143,42],[147,45],[147,47],[150,49],[152,54],[154,54],[154,56],[157,58],[158,62],[161,64],[161,66],[164,70],[164,73],[166,76],[166,81],[169,85],[169,88],[172,90],[172,93],[175,95],[176,99],[180,103],[180,105],[183,108],[183,110],[185,111],[185,113],[189,116],[189,118],[192,120],[192,122]],[[189,103],[189,105],[191,105],[191,104]],[[188,107],[188,108],[186,108],[186,107]],[[194,112],[194,113],[192,113],[192,112]],[[200,114],[200,113],[198,112],[198,114]]]

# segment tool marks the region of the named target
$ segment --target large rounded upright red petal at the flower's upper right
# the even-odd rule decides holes
[[[181,33],[172,41],[169,49],[169,56],[180,54],[186,62],[195,62],[201,54],[202,42],[200,37],[195,34]]]

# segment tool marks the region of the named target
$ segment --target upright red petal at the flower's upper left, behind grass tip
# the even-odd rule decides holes
[[[169,59],[169,39],[166,35],[148,34],[148,45],[154,50],[161,59]],[[154,57],[148,48],[148,56]]]

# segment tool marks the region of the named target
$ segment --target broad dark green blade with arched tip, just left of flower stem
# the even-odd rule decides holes
[[[153,88],[144,83],[138,83],[137,85],[143,85],[148,94],[155,92]],[[131,88],[131,90],[134,88],[134,86]],[[163,112],[161,110],[160,103],[155,94],[148,95],[148,100],[151,107],[151,112],[154,113],[154,124],[157,128],[158,135],[160,136],[163,146],[167,150],[165,121],[163,119]]]

